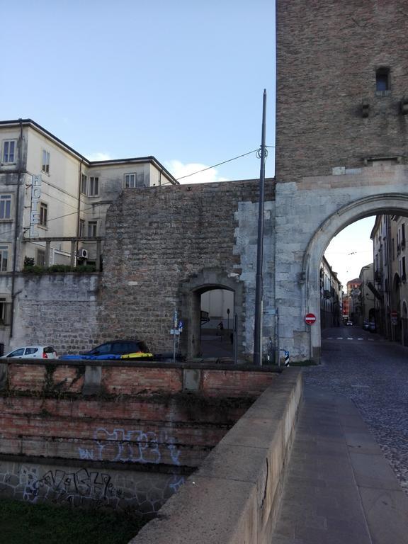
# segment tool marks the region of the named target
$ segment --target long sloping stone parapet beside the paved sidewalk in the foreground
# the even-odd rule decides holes
[[[130,544],[269,544],[301,398],[288,368]]]

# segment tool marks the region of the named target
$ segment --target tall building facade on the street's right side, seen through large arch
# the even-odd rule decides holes
[[[374,255],[375,315],[386,338],[408,345],[408,219],[378,215],[371,231]]]

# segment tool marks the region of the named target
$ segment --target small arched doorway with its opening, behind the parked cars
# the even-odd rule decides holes
[[[186,324],[181,341],[188,358],[232,357],[232,340],[237,342],[237,355],[242,353],[243,286],[237,274],[203,269],[183,284],[181,299]]]

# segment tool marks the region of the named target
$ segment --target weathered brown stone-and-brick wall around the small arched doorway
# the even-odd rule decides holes
[[[242,217],[242,205],[256,203],[258,192],[258,181],[123,191],[106,220],[101,334],[137,336],[152,351],[171,350],[174,304],[181,310],[180,317],[186,317],[183,285],[203,270],[215,269],[242,283],[239,319],[243,329],[253,331],[249,301],[256,270],[257,206]],[[273,200],[271,180],[266,183],[266,200]],[[266,246],[271,251],[271,244]],[[250,256],[242,259],[249,247]],[[266,269],[265,278],[269,287],[271,268]],[[187,320],[182,342],[189,326]],[[244,344],[248,339],[244,336]]]

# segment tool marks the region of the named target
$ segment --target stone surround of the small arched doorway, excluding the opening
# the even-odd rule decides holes
[[[242,346],[244,328],[243,285],[237,274],[230,274],[221,268],[203,268],[181,287],[182,315],[186,325],[186,336],[183,338],[183,351],[188,358],[200,353],[200,297],[205,291],[225,289],[234,292],[234,310],[237,313],[237,345],[238,356],[244,353]]]

